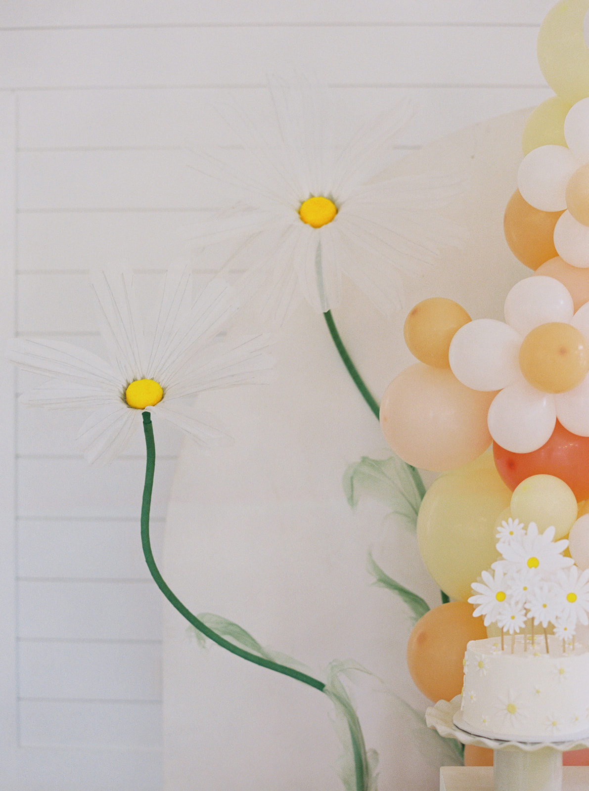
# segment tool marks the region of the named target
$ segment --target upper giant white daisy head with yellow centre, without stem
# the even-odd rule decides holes
[[[343,276],[381,312],[393,312],[402,276],[462,238],[438,213],[462,190],[462,175],[379,176],[392,164],[407,102],[339,146],[325,88],[302,79],[268,87],[272,117],[261,124],[235,105],[219,108],[245,149],[241,163],[234,149],[196,152],[196,168],[228,184],[234,198],[193,230],[194,244],[235,240],[230,265],[248,273],[263,315],[275,320],[300,297],[317,312],[336,307]]]

